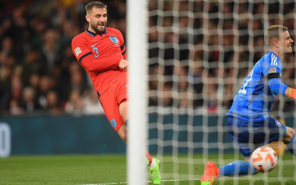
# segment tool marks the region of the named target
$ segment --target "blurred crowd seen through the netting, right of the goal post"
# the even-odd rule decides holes
[[[188,108],[225,112],[245,76],[268,52],[264,31],[281,24],[295,39],[294,1],[149,2],[150,105],[184,108],[185,113]],[[282,61],[282,80],[293,88],[292,47]],[[284,97],[272,107],[293,109],[294,101]]]

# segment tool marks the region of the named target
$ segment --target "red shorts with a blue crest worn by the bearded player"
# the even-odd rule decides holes
[[[125,124],[119,113],[119,105],[126,102],[128,97],[129,92],[126,78],[121,78],[111,84],[111,86],[99,97],[105,114],[116,132],[123,124]]]

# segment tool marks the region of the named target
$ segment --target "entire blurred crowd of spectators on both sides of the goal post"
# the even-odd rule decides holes
[[[26,0],[2,4],[1,113],[104,113],[91,80],[71,49],[72,38],[88,28],[84,8],[88,2]],[[126,1],[103,2],[108,5],[107,26],[119,29],[125,38]],[[150,0],[150,107],[228,109],[243,78],[267,52],[264,29],[283,24],[294,40],[294,6],[294,2],[266,6],[263,1]],[[127,48],[127,52],[130,55],[133,51]],[[294,52],[283,63],[282,79],[294,87]],[[294,101],[286,100],[283,109],[293,110]]]

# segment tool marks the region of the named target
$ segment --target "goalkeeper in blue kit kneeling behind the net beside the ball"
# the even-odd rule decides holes
[[[228,116],[228,133],[239,146],[245,161],[234,161],[216,167],[214,162],[205,165],[201,185],[211,185],[223,176],[245,176],[258,173],[252,166],[253,151],[268,143],[282,141],[296,156],[295,131],[269,116],[269,110],[277,94],[296,98],[296,90],[280,80],[282,60],[292,52],[292,43],[287,27],[273,25],[264,33],[269,52],[253,67],[243,82]]]

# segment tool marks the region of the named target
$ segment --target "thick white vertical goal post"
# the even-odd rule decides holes
[[[127,179],[130,185],[146,184],[147,167],[147,21],[148,1],[127,1],[127,59],[129,64],[129,122]]]

